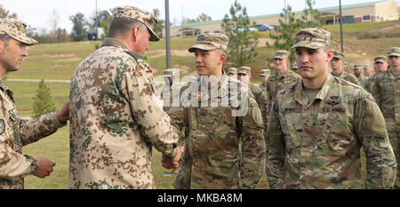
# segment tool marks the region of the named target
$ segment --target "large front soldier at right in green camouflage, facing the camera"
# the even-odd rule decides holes
[[[304,28],[295,36],[302,80],[276,95],[268,124],[271,188],[393,187],[396,158],[383,115],[369,92],[328,72],[331,34]]]

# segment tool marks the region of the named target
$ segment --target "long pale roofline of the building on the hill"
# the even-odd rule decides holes
[[[386,1],[380,0],[380,1],[368,2],[368,3],[341,5],[341,9],[369,6],[369,5],[374,5],[374,4],[379,4],[379,3],[383,3],[383,2],[389,2],[389,1],[393,1],[393,0],[386,0]],[[316,10],[318,10],[319,12],[336,10],[336,9],[339,9],[339,5],[331,6],[331,7],[324,7],[324,8],[320,8],[320,9],[316,8]],[[296,11],[294,13],[296,14],[296,13],[302,13],[302,12],[303,11]],[[252,16],[252,17],[249,17],[249,19],[253,20],[253,19],[260,19],[260,18],[267,18],[267,17],[275,17],[275,16],[280,16],[280,15],[281,15],[281,13],[274,13],[274,14],[267,14],[267,15]],[[182,28],[182,27],[188,28],[188,27],[192,27],[192,26],[213,24],[213,23],[218,23],[218,22],[222,22],[222,20],[210,20],[210,21],[203,21],[203,22],[195,22],[195,23],[184,24],[183,26],[176,26],[176,27],[172,27],[172,28]]]

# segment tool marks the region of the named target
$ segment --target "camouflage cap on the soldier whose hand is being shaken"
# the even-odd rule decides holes
[[[196,44],[188,49],[188,52],[195,52],[196,49],[204,51],[212,51],[220,49],[227,52],[228,49],[228,36],[221,33],[202,33],[197,36]]]

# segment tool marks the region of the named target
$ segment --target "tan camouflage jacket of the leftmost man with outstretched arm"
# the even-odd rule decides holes
[[[56,113],[37,119],[22,119],[15,107],[13,92],[0,80],[0,189],[22,189],[24,178],[36,173],[39,161],[22,154],[22,147],[65,126]]]

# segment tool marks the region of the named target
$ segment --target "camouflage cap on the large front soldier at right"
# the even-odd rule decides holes
[[[306,47],[309,49],[319,49],[331,45],[331,33],[322,28],[303,28],[294,37],[294,44],[291,48]]]

